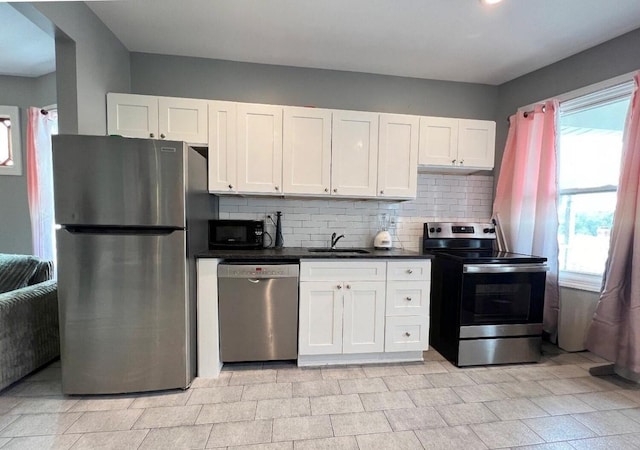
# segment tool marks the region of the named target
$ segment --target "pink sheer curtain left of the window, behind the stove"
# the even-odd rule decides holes
[[[557,339],[559,309],[557,110],[558,103],[549,101],[537,105],[526,117],[518,112],[509,118],[493,203],[509,250],[547,258],[544,330],[553,342]]]

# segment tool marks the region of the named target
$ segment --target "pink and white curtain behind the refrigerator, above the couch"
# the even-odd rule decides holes
[[[27,123],[27,193],[33,254],[55,261],[51,134],[57,121],[40,108],[29,108]]]

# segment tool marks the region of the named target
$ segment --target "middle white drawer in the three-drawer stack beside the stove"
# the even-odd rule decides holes
[[[388,281],[386,315],[428,316],[429,292],[428,281]]]

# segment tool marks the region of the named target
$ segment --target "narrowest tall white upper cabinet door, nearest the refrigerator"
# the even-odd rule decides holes
[[[209,102],[209,191],[236,192],[236,104]]]

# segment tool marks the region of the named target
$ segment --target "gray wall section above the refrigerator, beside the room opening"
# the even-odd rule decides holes
[[[33,7],[56,27],[60,132],[105,135],[106,93],[129,91],[129,51],[82,2]]]

